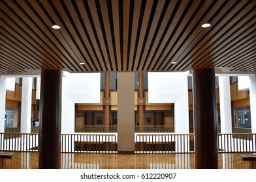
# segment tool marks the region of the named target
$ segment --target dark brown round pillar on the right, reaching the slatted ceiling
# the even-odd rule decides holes
[[[195,168],[216,169],[217,105],[213,68],[193,70]]]

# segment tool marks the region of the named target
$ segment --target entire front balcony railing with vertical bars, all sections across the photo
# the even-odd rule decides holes
[[[37,133],[0,133],[0,151],[38,151]],[[256,134],[218,134],[219,153],[255,153]],[[194,134],[135,135],[136,153],[194,153]],[[116,153],[116,134],[62,134],[61,152]]]

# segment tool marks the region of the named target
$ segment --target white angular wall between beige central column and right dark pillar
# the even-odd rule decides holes
[[[174,103],[175,133],[189,133],[186,73],[148,73],[148,102]]]

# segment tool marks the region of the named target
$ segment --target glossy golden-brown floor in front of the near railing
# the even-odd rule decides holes
[[[219,153],[219,169],[247,169],[237,153]],[[38,168],[39,153],[16,152],[6,159],[6,169]],[[61,153],[61,168],[65,169],[193,169],[194,154],[118,154]]]

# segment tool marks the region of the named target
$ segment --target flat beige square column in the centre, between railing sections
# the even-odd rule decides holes
[[[134,73],[118,73],[118,151],[135,151]]]

